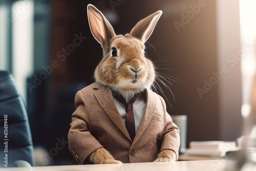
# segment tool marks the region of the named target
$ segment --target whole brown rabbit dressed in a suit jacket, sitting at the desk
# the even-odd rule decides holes
[[[177,161],[180,144],[179,129],[167,114],[164,100],[150,90],[155,81],[156,73],[153,62],[144,56],[144,43],[151,36],[162,11],[159,10],[140,20],[131,30],[130,34],[116,35],[109,21],[95,6],[89,4],[87,9],[90,29],[94,38],[103,49],[103,58],[95,69],[94,77],[96,82],[76,94],[75,103],[77,109],[72,115],[71,129],[68,136],[72,155],[79,164],[85,163],[86,160],[94,164]],[[91,96],[91,92],[97,92],[99,89],[104,90],[101,95],[105,100],[102,100],[97,93]],[[143,93],[144,96],[142,95]],[[104,94],[108,94],[106,95],[107,97],[104,97]],[[112,96],[113,94],[121,94],[126,101],[130,101],[135,94],[140,94],[141,97],[145,98],[145,114],[140,114],[141,116],[144,114],[144,116],[139,121],[140,125],[137,131],[137,134],[140,135],[137,137],[136,134],[134,141],[127,135],[125,125],[120,123],[120,115],[113,114],[113,111],[117,111],[117,108],[114,109],[112,104],[117,105],[118,103],[115,102]],[[149,95],[154,97],[148,97]],[[97,100],[93,101],[95,97]],[[89,98],[89,100],[87,98]],[[150,111],[147,108],[151,108],[151,106],[147,106],[147,103],[155,101],[156,99],[159,102],[156,107],[159,109],[155,110],[157,111],[157,115],[148,114],[148,116],[152,117],[152,121],[146,117],[146,111]],[[105,105],[103,105],[103,103],[105,103]],[[101,108],[97,105],[101,105]],[[97,109],[96,112],[94,112],[95,109]],[[112,124],[112,120],[103,115],[101,116],[102,118],[99,118],[95,116],[96,113],[98,114],[98,111],[106,111],[107,113],[109,110],[112,110],[112,113],[109,114],[110,118],[114,122],[117,122],[117,127],[122,128],[122,132],[126,137],[121,136],[123,135],[121,133],[119,134],[120,131],[117,131],[116,125],[98,131],[99,127],[103,127],[102,124]],[[160,113],[158,111],[163,112]],[[110,121],[102,121],[104,118]],[[148,125],[142,130],[147,120]],[[164,123],[165,121],[166,124]],[[93,122],[95,122],[95,124],[93,124]],[[152,126],[151,129],[150,124]],[[158,130],[158,125],[161,129],[154,135],[154,130]],[[112,131],[109,131],[109,129],[112,129]],[[103,134],[102,132],[110,132],[110,134],[106,135],[108,133]],[[117,140],[113,140],[115,144],[111,145],[110,142],[112,142],[113,139],[112,133],[117,133],[118,135],[113,136]],[[98,134],[102,135],[99,136]],[[146,134],[148,134],[148,136]],[[151,134],[152,137],[158,137],[159,140],[157,138],[146,140]],[[82,140],[82,136],[85,138],[88,136],[88,139]],[[143,137],[145,142],[143,141]],[[118,142],[120,139],[122,139],[122,141]],[[89,143],[90,141],[93,141],[93,143]],[[162,143],[160,148],[163,149],[158,149],[156,143]],[[119,149],[119,146],[116,144],[121,144],[125,146],[125,148]],[[156,154],[156,152],[159,153]],[[145,157],[146,155],[148,156]]]

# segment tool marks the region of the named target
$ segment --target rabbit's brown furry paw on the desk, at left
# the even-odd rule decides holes
[[[106,151],[105,148],[98,148],[90,155],[90,161],[94,164],[117,164],[121,161],[115,160],[114,157]]]

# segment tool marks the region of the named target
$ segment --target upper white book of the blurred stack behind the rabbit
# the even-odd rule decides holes
[[[237,145],[234,141],[191,141],[190,149],[220,149],[221,151],[234,150]]]

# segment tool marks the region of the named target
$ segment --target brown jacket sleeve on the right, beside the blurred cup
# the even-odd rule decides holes
[[[179,156],[179,147],[180,147],[180,131],[178,126],[173,123],[172,117],[166,111],[166,104],[162,97],[160,97],[163,110],[164,110],[164,133],[163,141],[160,151],[164,149],[171,149],[176,153],[176,161]]]

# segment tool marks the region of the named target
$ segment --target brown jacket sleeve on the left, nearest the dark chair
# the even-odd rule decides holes
[[[89,131],[89,114],[81,91],[76,93],[75,105],[76,111],[72,114],[71,128],[68,134],[69,149],[78,164],[83,164],[84,160],[102,145]]]

